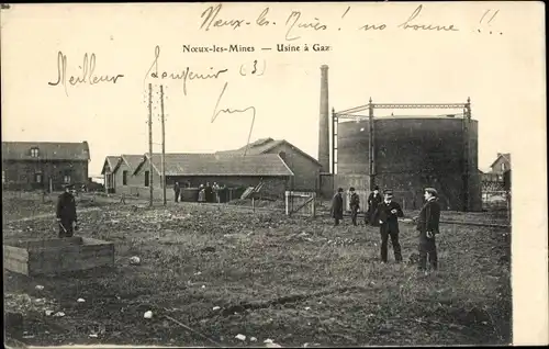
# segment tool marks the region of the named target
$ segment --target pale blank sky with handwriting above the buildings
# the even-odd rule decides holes
[[[200,30],[201,14],[212,4],[14,5],[2,13],[2,139],[87,140],[90,176],[99,174],[108,155],[148,151],[150,82],[155,153],[161,151],[160,83],[167,153],[238,148],[248,140],[251,111],[220,113],[212,122],[226,82],[217,110],[254,106],[251,140],[284,138],[317,157],[320,66],[325,64],[330,109],[366,104],[370,97],[379,103],[463,103],[470,97],[473,119],[479,121],[479,167],[486,169],[497,153],[512,153],[509,136],[516,122],[534,116],[524,115],[524,105],[539,97],[533,95],[539,93],[535,87],[540,78],[533,67],[541,64],[542,49],[533,33],[542,26],[542,18],[533,15],[534,7],[517,11],[513,3],[494,9],[481,3],[427,3],[416,22],[408,23],[455,24],[459,31],[397,30],[418,4],[354,3],[347,11],[345,4],[271,3],[266,19],[279,22],[270,27],[255,25],[267,4],[223,4],[216,20],[244,18],[251,26],[211,25],[208,31]],[[316,18],[328,29],[294,27],[288,37],[301,37],[288,41],[284,22],[292,10],[301,11],[298,23]],[[518,21],[522,25],[514,25]],[[385,23],[389,29],[358,30],[366,23]],[[229,44],[253,46],[255,52],[182,49]],[[279,44],[310,48],[320,44],[330,49],[280,53]],[[179,74],[187,67],[203,75],[227,71],[217,79],[187,79],[184,93],[181,80],[147,77],[156,46],[158,71]],[[67,59],[66,90],[63,83],[48,85],[58,80],[59,52]],[[116,83],[71,86],[68,79],[82,75],[79,67],[86,54],[88,65],[94,55],[97,76],[123,77]],[[246,76],[239,74],[240,67]]]

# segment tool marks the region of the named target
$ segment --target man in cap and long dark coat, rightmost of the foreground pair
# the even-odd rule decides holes
[[[438,193],[434,188],[426,188],[425,204],[416,217],[416,229],[419,233],[419,271],[427,272],[427,256],[433,270],[438,268],[437,246],[435,236],[439,233],[440,204]]]

